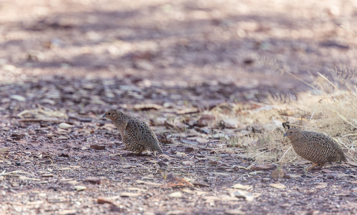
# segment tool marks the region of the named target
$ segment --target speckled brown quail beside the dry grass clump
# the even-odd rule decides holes
[[[341,146],[325,134],[294,127],[288,129],[284,136],[290,139],[296,154],[314,163],[310,169],[318,164],[322,168],[326,162],[346,161]]]

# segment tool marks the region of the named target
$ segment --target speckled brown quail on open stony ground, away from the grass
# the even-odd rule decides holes
[[[129,149],[137,155],[143,151],[150,151],[154,154],[164,153],[154,131],[141,119],[124,114],[118,109],[108,110],[103,117],[111,119],[119,130],[125,145],[120,150]]]

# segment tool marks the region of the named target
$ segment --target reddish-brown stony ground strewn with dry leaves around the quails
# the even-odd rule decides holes
[[[288,119],[268,95],[356,68],[353,4],[0,1],[0,214],[355,214],[353,163],[307,172],[236,145]],[[165,154],[118,151],[110,108]]]

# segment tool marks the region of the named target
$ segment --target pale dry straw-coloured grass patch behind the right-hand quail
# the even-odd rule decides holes
[[[276,71],[285,70],[276,62],[262,60]],[[274,66],[272,66],[274,65]],[[257,162],[293,162],[301,157],[292,149],[283,134],[287,128],[322,132],[342,146],[350,164],[356,164],[357,141],[357,76],[356,71],[332,68],[331,77],[319,72],[313,77],[311,91],[295,96],[271,96],[264,103],[253,105],[222,104],[211,110],[220,119],[235,118],[242,128],[227,142],[229,149]],[[291,74],[295,77],[293,74]],[[229,108],[228,108],[229,107]]]

